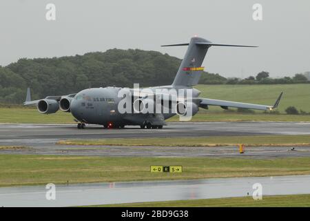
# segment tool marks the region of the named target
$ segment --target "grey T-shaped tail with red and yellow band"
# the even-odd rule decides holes
[[[192,37],[189,43],[185,44],[170,44],[166,46],[188,46],[185,57],[178,68],[178,73],[174,78],[173,86],[193,86],[198,84],[200,75],[204,67],[203,59],[211,46],[233,46],[233,47],[255,47],[255,46],[238,46],[229,44],[213,44],[211,41],[200,37]]]

